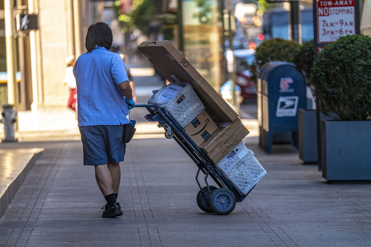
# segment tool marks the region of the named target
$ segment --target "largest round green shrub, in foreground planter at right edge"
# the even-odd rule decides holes
[[[345,121],[371,120],[371,38],[348,35],[327,45],[310,80],[323,113]]]

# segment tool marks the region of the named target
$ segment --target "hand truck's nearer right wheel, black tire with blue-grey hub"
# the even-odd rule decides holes
[[[209,196],[209,206],[214,213],[227,215],[236,207],[236,196],[227,188],[217,188]]]

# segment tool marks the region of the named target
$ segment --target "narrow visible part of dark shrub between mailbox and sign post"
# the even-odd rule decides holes
[[[314,44],[313,40],[309,40],[305,42],[302,46],[300,46],[298,54],[293,61],[298,67],[299,70],[303,71],[305,74],[306,79],[308,80],[308,84],[310,85],[309,79],[311,78],[311,70],[313,68],[313,49]]]

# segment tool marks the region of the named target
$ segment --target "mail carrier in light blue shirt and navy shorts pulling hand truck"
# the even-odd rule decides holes
[[[112,46],[108,24],[91,24],[85,39],[88,51],[78,57],[73,67],[83,163],[95,168],[96,181],[107,202],[104,218],[122,215],[116,201],[121,178],[119,163],[124,161],[126,149],[121,140],[124,125],[129,123],[128,109],[135,104],[125,64],[119,54],[110,51]]]

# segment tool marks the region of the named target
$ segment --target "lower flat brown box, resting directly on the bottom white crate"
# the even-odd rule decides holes
[[[237,131],[232,131],[224,140],[221,142],[217,148],[214,148],[207,156],[217,163],[221,158],[223,158],[228,151],[233,148],[237,143],[239,143],[246,135],[249,134],[247,128],[243,128],[238,133]]]

